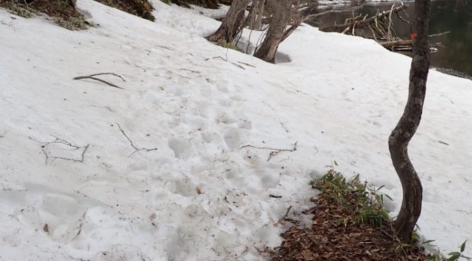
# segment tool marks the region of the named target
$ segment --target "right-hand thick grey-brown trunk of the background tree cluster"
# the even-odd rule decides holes
[[[269,8],[273,11],[269,29],[261,46],[254,56],[266,62],[275,62],[275,53],[284,40],[285,28],[290,22],[293,0],[268,0]]]

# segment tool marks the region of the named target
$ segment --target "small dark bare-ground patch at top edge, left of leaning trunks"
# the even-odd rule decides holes
[[[95,0],[101,4],[117,8],[131,15],[139,16],[150,21],[156,20],[152,11],[154,7],[147,0]]]

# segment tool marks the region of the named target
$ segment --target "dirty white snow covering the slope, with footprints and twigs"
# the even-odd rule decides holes
[[[156,22],[79,0],[100,25],[83,32],[0,11],[0,260],[261,260],[334,161],[398,211],[387,139],[409,58],[303,26],[271,65],[207,42],[216,20],[153,3]],[[72,80],[99,72],[125,90]],[[410,147],[421,234],[446,253],[472,234],[471,100],[471,81],[431,72]],[[295,142],[270,161],[241,148]]]

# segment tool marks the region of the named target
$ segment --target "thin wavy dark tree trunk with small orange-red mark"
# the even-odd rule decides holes
[[[414,29],[417,38],[413,44],[413,60],[409,70],[409,91],[405,111],[388,138],[393,166],[400,178],[403,199],[395,220],[395,229],[404,243],[411,241],[414,226],[421,214],[423,188],[408,156],[408,143],[417,131],[426,96],[429,69],[428,19],[430,0],[415,0]]]

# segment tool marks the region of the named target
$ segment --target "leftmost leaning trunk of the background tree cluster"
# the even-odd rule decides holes
[[[244,23],[244,12],[246,7],[251,0],[234,0],[230,6],[230,10],[226,14],[225,19],[221,22],[220,27],[214,34],[206,37],[208,41],[220,41],[224,39],[226,42],[231,43],[240,29],[242,29]]]

